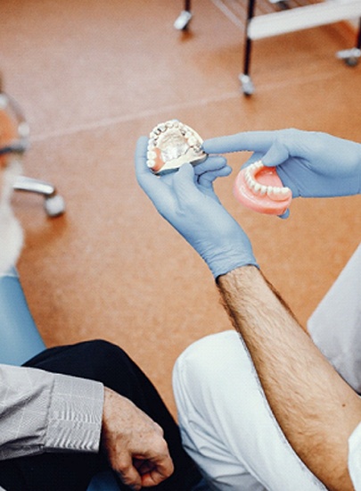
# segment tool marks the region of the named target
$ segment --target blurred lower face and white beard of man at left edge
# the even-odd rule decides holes
[[[21,172],[20,159],[8,157],[0,195],[0,274],[14,266],[21,253],[23,233],[20,222],[12,212],[12,186]]]

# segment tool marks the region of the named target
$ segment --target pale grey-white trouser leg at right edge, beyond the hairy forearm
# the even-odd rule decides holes
[[[361,393],[361,244],[308,320],[318,349]]]

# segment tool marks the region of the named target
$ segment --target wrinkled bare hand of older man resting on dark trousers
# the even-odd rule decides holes
[[[102,445],[111,468],[135,490],[160,484],[174,470],[160,426],[109,388],[104,389]]]

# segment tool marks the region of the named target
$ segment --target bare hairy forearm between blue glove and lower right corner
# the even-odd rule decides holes
[[[291,446],[326,487],[352,490],[348,439],[361,420],[360,398],[257,268],[231,270],[217,284]]]

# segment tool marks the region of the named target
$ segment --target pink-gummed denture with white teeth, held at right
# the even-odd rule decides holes
[[[282,215],[291,204],[292,193],[283,187],[275,167],[261,161],[242,169],[234,182],[235,198],[255,212]]]

